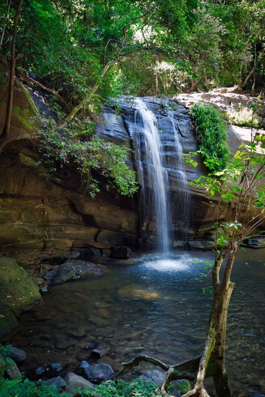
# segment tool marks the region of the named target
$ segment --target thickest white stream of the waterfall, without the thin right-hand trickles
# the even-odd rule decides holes
[[[163,148],[156,116],[146,103],[136,98],[135,122],[138,134],[139,178],[142,182],[142,233],[148,237],[151,222],[156,224],[158,250],[169,252],[168,174],[163,164]]]

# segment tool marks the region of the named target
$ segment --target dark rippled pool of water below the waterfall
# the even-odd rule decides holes
[[[75,370],[87,341],[110,347],[116,362],[137,353],[166,363],[191,358],[204,345],[211,293],[200,269],[211,258],[194,252],[138,256],[134,264],[109,265],[103,277],[50,288],[6,341],[27,352],[25,371],[49,363]],[[264,250],[242,252],[233,270],[227,366],[235,396],[265,393],[263,259]]]

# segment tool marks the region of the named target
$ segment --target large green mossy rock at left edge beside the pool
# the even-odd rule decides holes
[[[41,299],[39,288],[14,258],[0,257],[0,335],[17,325],[16,316]]]

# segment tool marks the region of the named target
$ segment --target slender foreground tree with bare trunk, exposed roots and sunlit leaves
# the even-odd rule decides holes
[[[259,103],[253,105],[253,116]],[[262,120],[263,121],[263,120]],[[261,124],[262,125],[262,122]],[[235,283],[231,281],[231,272],[237,252],[244,240],[259,233],[265,220],[265,133],[263,130],[251,129],[249,142],[241,144],[226,168],[211,171],[206,177],[201,176],[195,181],[196,186],[206,189],[213,197],[217,219],[215,261],[209,264],[213,283],[213,303],[209,318],[209,328],[204,350],[201,356],[180,363],[167,365],[156,358],[140,355],[129,363],[123,363],[124,369],[146,361],[159,365],[167,371],[165,382],[161,386],[164,396],[169,396],[167,387],[171,380],[194,379],[195,386],[184,397],[209,397],[204,388],[204,378],[212,376],[216,396],[231,397],[229,377],[225,367],[226,321],[231,294]],[[194,153],[187,156],[188,164],[196,165]],[[218,162],[204,153],[204,162]],[[220,162],[221,164],[221,162]],[[220,165],[219,164],[219,165]],[[216,168],[215,168],[216,169]],[[220,209],[230,205],[233,218],[220,222]],[[195,374],[198,369],[197,375]]]

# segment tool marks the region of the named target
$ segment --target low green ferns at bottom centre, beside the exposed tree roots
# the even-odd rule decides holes
[[[136,378],[131,382],[117,380],[112,382],[103,382],[94,389],[82,391],[82,397],[88,396],[102,397],[162,397],[160,391],[157,391],[157,385],[153,382]]]

